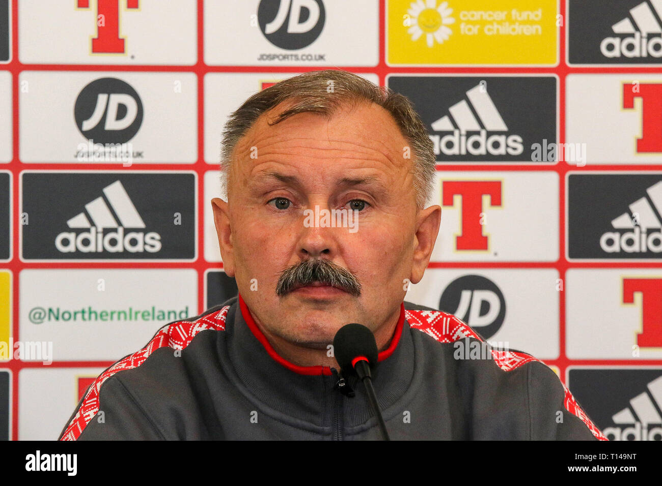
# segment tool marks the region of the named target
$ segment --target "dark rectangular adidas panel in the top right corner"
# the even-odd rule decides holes
[[[660,0],[570,0],[570,63],[659,63]]]

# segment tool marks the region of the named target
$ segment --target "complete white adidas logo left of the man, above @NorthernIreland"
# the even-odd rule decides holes
[[[133,205],[122,182],[115,181],[103,188],[103,196],[85,204],[85,211],[92,220],[87,219],[81,212],[68,220],[71,229],[87,229],[81,233],[63,231],[55,239],[55,246],[62,253],[142,253],[148,251],[156,253],[161,249],[161,235],[150,231],[130,231],[124,234],[124,228],[144,228],[145,223]],[[119,223],[118,223],[119,221]],[[115,231],[104,233],[105,229],[113,228]]]

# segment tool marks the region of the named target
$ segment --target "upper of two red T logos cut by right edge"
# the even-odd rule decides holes
[[[662,84],[623,83],[623,108],[634,108],[641,98],[641,138],[638,152],[662,152]]]

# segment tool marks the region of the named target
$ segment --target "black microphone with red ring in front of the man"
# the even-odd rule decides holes
[[[372,331],[364,325],[352,323],[338,329],[333,339],[334,356],[344,374],[355,372],[368,394],[368,401],[372,407],[373,414],[377,417],[379,429],[384,440],[391,440],[386,430],[384,417],[381,416],[377,395],[372,385],[370,368],[377,366],[377,342]]]

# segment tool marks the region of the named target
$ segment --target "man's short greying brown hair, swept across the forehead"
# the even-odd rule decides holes
[[[288,101],[287,110],[269,125],[305,112],[330,117],[341,107],[348,104],[356,106],[359,102],[373,102],[385,108],[411,145],[416,206],[418,209],[426,207],[432,196],[436,158],[432,140],[412,102],[390,88],[377,86],[359,75],[337,69],[310,71],[284,79],[258,91],[230,114],[223,130],[220,154],[221,191],[226,200],[234,148],[261,114],[283,101]]]

